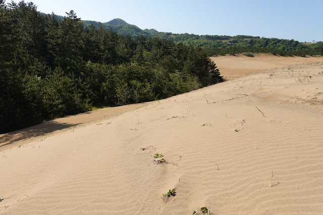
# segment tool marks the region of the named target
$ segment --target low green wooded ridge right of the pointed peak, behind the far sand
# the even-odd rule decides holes
[[[158,32],[154,35],[163,39],[173,38],[175,42],[183,42],[185,44],[203,47],[209,56],[235,55],[243,52],[271,53],[272,55],[280,56],[323,56],[323,42],[316,42],[308,45],[293,39],[260,38],[247,35],[200,36],[187,33],[172,34],[163,32]]]

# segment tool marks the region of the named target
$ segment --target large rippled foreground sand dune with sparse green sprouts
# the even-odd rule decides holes
[[[323,214],[322,83],[270,69],[0,147],[0,213]]]

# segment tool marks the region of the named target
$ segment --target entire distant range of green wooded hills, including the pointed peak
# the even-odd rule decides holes
[[[59,19],[64,17],[58,16]],[[96,21],[82,21],[84,26],[100,26],[106,30],[112,29],[118,34],[137,36],[158,37],[161,39],[173,39],[175,43],[183,42],[188,45],[197,45],[208,53],[215,55],[235,55],[243,52],[271,53],[280,56],[301,56],[323,55],[323,42],[302,43],[296,40],[260,38],[249,35],[196,35],[196,34],[173,34],[170,32],[158,32],[155,29],[142,30],[135,25],[130,25],[121,19],[114,19],[110,22],[100,23]]]

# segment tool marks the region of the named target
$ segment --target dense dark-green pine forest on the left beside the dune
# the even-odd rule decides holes
[[[0,133],[93,106],[151,101],[223,81],[201,47],[131,38],[0,0]]]

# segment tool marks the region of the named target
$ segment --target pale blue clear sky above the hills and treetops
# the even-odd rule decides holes
[[[82,20],[108,22],[120,18],[142,29],[154,28],[163,32],[230,36],[244,34],[302,42],[323,41],[323,0],[32,2],[43,13],[65,15],[65,12],[74,10]]]

